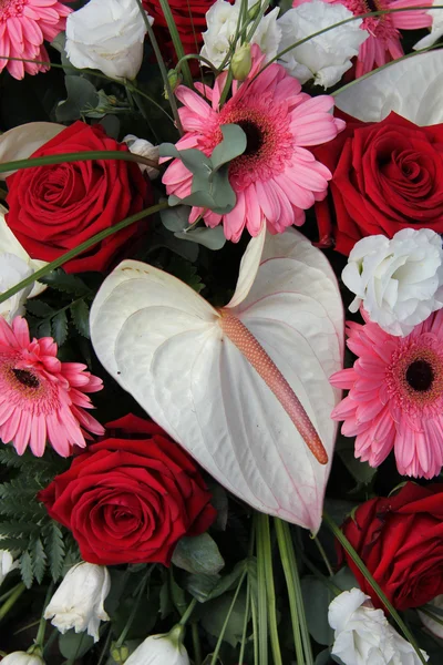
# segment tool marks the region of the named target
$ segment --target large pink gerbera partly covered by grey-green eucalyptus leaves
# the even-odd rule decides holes
[[[237,195],[234,209],[226,215],[194,207],[189,223],[203,214],[207,226],[223,222],[228,239],[238,242],[243,229],[258,235],[264,219],[271,233],[287,226],[300,226],[305,209],[324,198],[330,171],[313,157],[307,146],[334,139],[344,127],[333,117],[332,96],[310,98],[282,66],[271,64],[256,80],[265,55],[253,45],[254,65],[248,79],[233,84],[233,96],[218,109],[226,72],[214,89],[196,83],[196,89],[212,102],[181,85],[176,95],[186,134],[176,144],[178,150],[197,147],[210,155],[222,141],[220,125],[238,124],[247,136],[243,155],[229,167],[229,181]],[[163,176],[168,194],[183,198],[190,194],[192,174],[179,160],[174,160]]]

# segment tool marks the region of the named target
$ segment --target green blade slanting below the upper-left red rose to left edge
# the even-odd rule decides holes
[[[154,215],[155,213],[158,213],[158,211],[163,211],[167,207],[168,207],[168,203],[166,201],[163,203],[157,203],[156,205],[152,205],[151,207],[145,208],[144,211],[141,211],[140,213],[136,213],[135,215],[131,215],[131,217],[126,217],[125,219],[122,219],[122,222],[114,224],[114,226],[110,226],[109,228],[101,231],[100,233],[92,236],[92,238],[84,241],[84,243],[81,243],[73,249],[70,249],[62,256],[59,256],[59,258],[55,258],[54,260],[49,263],[47,266],[43,266],[39,270],[35,270],[35,273],[33,273],[29,277],[25,277],[25,279],[22,279],[21,282],[19,282],[19,284],[16,284],[16,286],[12,286],[10,289],[4,291],[3,294],[0,294],[0,303],[4,303],[4,300],[8,300],[8,298],[18,294],[22,288],[25,288],[30,284],[38,282],[39,279],[41,279],[42,277],[48,275],[48,273],[55,270],[55,268],[60,268],[68,260],[75,258],[75,256],[78,256],[82,252],[85,252],[90,247],[93,247],[97,243],[101,243],[104,238],[107,238],[109,236],[113,235],[114,233],[122,231],[122,228],[126,228],[126,226],[131,226],[131,224],[135,224],[135,222],[140,222],[144,217]]]

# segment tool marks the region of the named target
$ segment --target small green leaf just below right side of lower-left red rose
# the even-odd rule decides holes
[[[208,533],[182,538],[173,554],[173,563],[188,573],[218,573],[225,562]]]

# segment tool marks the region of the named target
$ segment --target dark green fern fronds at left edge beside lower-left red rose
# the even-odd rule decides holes
[[[42,582],[48,569],[59,580],[66,553],[63,532],[51,520],[37,493],[69,462],[48,450],[43,458],[29,451],[19,457],[12,446],[0,449],[0,466],[16,471],[16,478],[0,484],[0,535],[3,549],[17,552],[24,584]]]

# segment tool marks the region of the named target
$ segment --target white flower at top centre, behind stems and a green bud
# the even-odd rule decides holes
[[[248,8],[257,4],[257,0],[248,0]],[[217,0],[206,12],[207,31],[203,33],[204,45],[202,55],[210,60],[215,66],[220,66],[236,34],[237,22],[240,16],[241,0],[230,4],[225,0]],[[258,44],[266,53],[266,62],[277,55],[281,30],[277,23],[279,9],[272,9],[259,22],[250,43]]]

